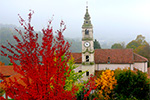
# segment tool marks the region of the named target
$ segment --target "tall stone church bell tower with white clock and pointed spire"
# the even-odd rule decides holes
[[[82,25],[82,70],[86,71],[85,80],[90,74],[94,75],[94,64],[93,26],[88,13],[88,6],[86,6],[84,23]]]

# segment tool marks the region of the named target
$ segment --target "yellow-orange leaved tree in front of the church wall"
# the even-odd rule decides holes
[[[115,79],[114,72],[107,69],[102,72],[100,78],[95,80],[96,86],[98,88],[98,96],[100,99],[108,100],[110,99],[109,94],[114,89],[117,84],[117,80]]]

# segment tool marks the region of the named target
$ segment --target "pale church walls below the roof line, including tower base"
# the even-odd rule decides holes
[[[147,72],[147,62],[139,62],[139,63],[133,63],[133,64],[94,64],[94,65],[82,65],[82,64],[75,64],[78,67],[75,69],[75,72],[79,71],[89,71],[89,74],[95,74],[95,71],[98,70],[115,70],[117,68],[120,69],[125,69],[125,68],[130,68],[131,70],[134,70],[134,68],[142,71],[142,72]],[[86,76],[86,73],[85,75]],[[88,78],[88,77],[87,77]]]

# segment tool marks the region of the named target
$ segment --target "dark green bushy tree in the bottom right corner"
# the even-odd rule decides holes
[[[115,93],[118,98],[124,97],[138,100],[149,100],[149,80],[147,74],[141,71],[131,71],[130,69],[116,69],[115,78],[117,85]],[[140,94],[140,95],[139,95]]]

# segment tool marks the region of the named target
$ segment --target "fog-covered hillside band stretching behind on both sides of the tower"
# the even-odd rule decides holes
[[[17,27],[16,25],[0,24],[0,44],[8,46],[7,40],[12,44],[16,43],[15,40],[13,39],[13,35],[19,36],[19,34],[15,31],[15,28],[23,31],[22,27]],[[37,31],[37,33],[39,34],[39,40],[38,41],[41,44],[42,43],[42,36],[43,36],[42,32]],[[54,32],[54,34],[55,34],[55,32]],[[65,32],[63,34],[65,34]],[[124,42],[125,44],[128,44],[130,41],[134,40],[135,38],[136,38],[136,36],[132,39],[131,39],[131,37],[129,37],[129,38],[126,38],[126,37],[116,38],[114,36],[104,37],[103,39],[99,38],[99,37],[95,37],[95,39],[97,39],[97,41],[99,41],[102,49],[110,49],[114,43]],[[79,37],[78,38],[77,37],[76,38],[71,37],[70,38],[70,37],[65,36],[65,40],[71,44],[71,47],[70,47],[71,52],[81,52],[81,50],[82,50],[81,39],[82,39],[82,37],[80,37],[80,38]],[[148,39],[149,38],[146,37],[146,41],[149,42]],[[4,62],[5,64],[9,64],[9,59],[6,57],[0,56],[0,61]]]

